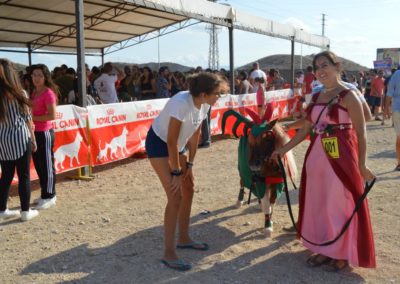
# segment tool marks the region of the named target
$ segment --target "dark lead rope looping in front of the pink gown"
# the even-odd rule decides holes
[[[288,211],[289,211],[289,215],[290,215],[290,219],[292,221],[293,227],[296,229],[297,234],[303,239],[305,240],[307,243],[310,243],[314,246],[329,246],[333,243],[335,243],[340,237],[343,236],[344,232],[347,230],[347,228],[349,227],[354,215],[357,213],[357,211],[360,209],[362,202],[364,201],[364,199],[367,197],[367,194],[370,192],[370,190],[372,189],[372,187],[375,184],[376,178],[374,178],[371,182],[366,182],[365,183],[365,187],[364,187],[364,193],[361,195],[361,197],[357,200],[356,205],[354,207],[353,213],[351,214],[350,218],[347,220],[347,222],[343,225],[342,230],[340,231],[339,235],[334,238],[333,240],[324,242],[324,243],[315,243],[312,242],[308,239],[306,239],[301,233],[299,228],[297,228],[296,222],[294,221],[294,217],[293,217],[293,211],[292,211],[292,205],[290,203],[290,197],[289,197],[289,189],[288,189],[288,185],[287,185],[287,178],[286,178],[286,171],[285,168],[283,167],[283,163],[282,163],[282,159],[280,156],[278,156],[278,163],[279,163],[279,167],[282,171],[282,175],[283,175],[283,182],[285,184],[285,196],[286,196],[286,202],[287,202],[287,206],[288,206]],[[304,189],[302,189],[304,190]]]

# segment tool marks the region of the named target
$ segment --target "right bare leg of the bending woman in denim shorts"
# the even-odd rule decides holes
[[[182,165],[183,176],[186,173],[186,155],[179,155],[179,163]],[[190,244],[193,241],[189,236],[189,223],[190,223],[190,212],[192,210],[192,201],[194,193],[194,183],[190,178],[186,178],[182,181],[182,200],[179,207],[178,225],[179,225],[179,237],[178,244]]]

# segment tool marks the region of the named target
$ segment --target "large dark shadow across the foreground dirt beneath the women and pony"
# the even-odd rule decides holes
[[[278,235],[264,240],[259,230],[249,229],[235,235],[222,223],[241,215],[259,213],[248,207],[235,210],[232,206],[213,211],[205,217],[192,218],[192,231],[210,244],[208,251],[182,250],[179,254],[194,264],[188,272],[178,272],[160,263],[162,251],[162,227],[142,230],[106,247],[91,248],[87,244],[71,248],[41,259],[25,267],[22,275],[58,274],[62,283],[362,283],[357,274],[329,273],[321,268],[308,268],[306,251],[287,252],[274,255],[282,246],[298,246],[292,235]],[[229,216],[222,216],[227,215]],[[211,232],[211,233],[210,233]],[[218,235],[214,239],[213,235]],[[265,243],[258,249],[245,251],[237,257],[238,246],[245,241]],[[264,242],[265,241],[265,242]],[[233,251],[230,254],[230,251]],[[264,259],[253,264],[256,259]],[[202,270],[196,268],[201,264]],[[199,267],[199,266],[197,266]],[[72,273],[83,273],[80,278],[69,277]],[[310,274],[312,275],[310,276]]]

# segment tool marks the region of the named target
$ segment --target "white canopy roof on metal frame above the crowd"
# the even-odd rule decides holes
[[[326,47],[329,40],[206,0],[84,0],[86,52],[191,19]],[[75,1],[0,0],[0,47],[76,51]]]

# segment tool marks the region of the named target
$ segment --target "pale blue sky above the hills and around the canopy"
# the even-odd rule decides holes
[[[326,14],[325,35],[331,50],[339,56],[372,67],[377,48],[400,48],[400,0],[220,0],[248,13],[282,23],[291,23],[312,34],[321,34],[322,14]],[[206,24],[198,24],[159,39],[160,60],[188,66],[208,66],[209,35]],[[234,32],[235,66],[273,54],[289,54],[290,42],[249,32]],[[296,44],[295,53],[308,55],[319,49]],[[0,52],[0,57],[23,64],[27,55]],[[228,30],[219,31],[220,67],[229,65]],[[146,63],[158,61],[158,41],[151,40],[105,57],[106,61]],[[87,57],[90,66],[100,57]],[[74,56],[34,55],[33,63],[50,68],[60,64],[76,66]],[[272,66],[271,66],[272,67]],[[298,67],[297,67],[298,68]]]

